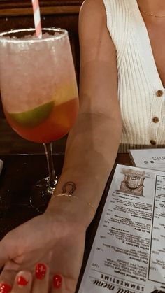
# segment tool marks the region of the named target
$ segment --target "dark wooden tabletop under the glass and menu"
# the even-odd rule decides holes
[[[59,175],[62,171],[64,162],[63,154],[54,156],[55,172]],[[44,154],[8,154],[1,155],[4,165],[0,176],[0,239],[11,229],[19,224],[26,222],[38,215],[36,210],[29,205],[29,193],[31,186],[37,180],[45,178],[48,175],[47,162]],[[131,164],[129,155],[117,155],[116,163]],[[106,200],[110,178],[103,192],[101,203],[97,210],[94,220],[87,230],[87,241],[85,245],[85,257],[82,264],[80,279],[85,269],[85,263],[94,239],[96,227],[99,224],[99,218]],[[80,284],[80,280],[78,285]]]

